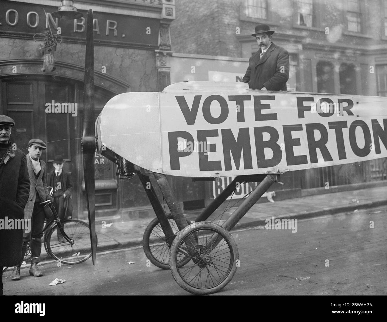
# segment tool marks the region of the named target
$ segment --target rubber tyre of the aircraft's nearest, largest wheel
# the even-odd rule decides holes
[[[176,255],[180,248],[180,243],[183,241],[189,234],[192,234],[194,231],[201,230],[201,229],[211,229],[219,233],[223,236],[224,240],[228,243],[229,249],[231,250],[232,258],[230,260],[230,266],[229,266],[229,272],[226,275],[226,277],[221,281],[220,284],[214,286],[213,288],[196,288],[190,284],[188,284],[179,274],[178,266],[176,263]],[[238,253],[238,247],[236,245],[236,242],[233,238],[233,236],[229,233],[228,230],[224,229],[222,226],[216,224],[216,223],[210,223],[205,221],[200,221],[195,224],[190,224],[186,228],[184,228],[178,235],[176,236],[175,240],[173,241],[171,245],[170,250],[170,269],[173,278],[175,279],[176,283],[179,284],[179,286],[186,291],[196,294],[196,295],[207,295],[211,293],[216,293],[220,291],[224,286],[226,286],[231,279],[233,279],[237,266],[236,266],[236,260],[239,259],[239,253]]]

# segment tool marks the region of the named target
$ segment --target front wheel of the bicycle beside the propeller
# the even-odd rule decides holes
[[[50,228],[45,239],[46,252],[63,264],[79,264],[91,257],[89,225],[80,220],[62,221],[63,231],[68,238],[74,240],[71,245],[65,240],[55,224]],[[59,232],[59,236],[58,236]]]

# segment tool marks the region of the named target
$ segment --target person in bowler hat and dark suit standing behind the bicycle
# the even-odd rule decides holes
[[[63,156],[54,157],[54,170],[48,175],[48,184],[54,188],[54,207],[58,213],[59,219],[72,215],[71,194],[74,187],[71,173],[63,171]],[[64,242],[62,234],[57,230],[58,241]]]

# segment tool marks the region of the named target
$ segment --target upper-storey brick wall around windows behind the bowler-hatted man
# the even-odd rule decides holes
[[[319,30],[293,27],[293,19],[296,19],[294,1],[268,0],[267,21],[241,20],[243,3],[243,0],[176,0],[176,20],[171,24],[172,50],[177,53],[242,57],[240,35],[253,33],[259,22],[268,23],[276,31],[274,42],[279,34],[283,35],[282,38],[285,34],[301,36],[301,43],[315,41],[320,45],[344,45],[353,49],[359,45],[377,45],[381,41],[380,0],[367,0],[363,3],[363,31],[367,37],[346,34],[346,18],[341,1],[315,2]],[[240,35],[236,34],[237,27],[240,28]],[[325,27],[329,27],[330,36],[324,33]],[[386,43],[385,40],[383,42]]]

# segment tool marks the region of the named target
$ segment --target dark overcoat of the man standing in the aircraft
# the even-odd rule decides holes
[[[289,79],[289,53],[284,48],[271,43],[269,49],[260,58],[261,49],[248,62],[242,82],[248,82],[252,89],[266,87],[268,91],[286,91]]]

